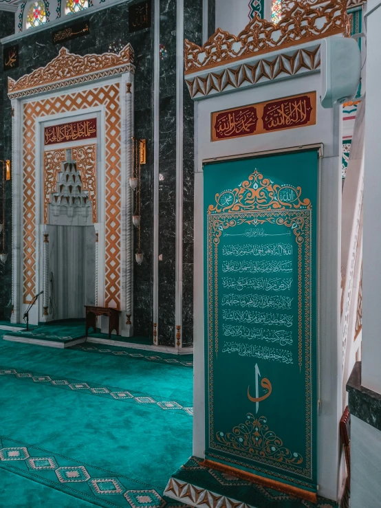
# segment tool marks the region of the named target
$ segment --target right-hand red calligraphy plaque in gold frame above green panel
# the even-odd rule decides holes
[[[263,129],[276,131],[308,125],[313,110],[309,95],[268,102],[263,107]]]

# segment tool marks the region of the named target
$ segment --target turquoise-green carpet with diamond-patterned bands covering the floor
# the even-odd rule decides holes
[[[162,496],[191,454],[193,371],[157,356],[0,340],[0,506],[184,506]]]

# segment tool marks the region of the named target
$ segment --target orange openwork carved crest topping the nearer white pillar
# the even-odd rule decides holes
[[[314,5],[295,1],[277,25],[257,15],[238,36],[220,28],[201,47],[186,39],[185,74],[229,65],[243,58],[335,34],[350,36],[347,0],[321,1]]]

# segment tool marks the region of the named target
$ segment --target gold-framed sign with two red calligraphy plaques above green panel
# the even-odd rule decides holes
[[[316,124],[316,92],[212,113],[212,141]]]

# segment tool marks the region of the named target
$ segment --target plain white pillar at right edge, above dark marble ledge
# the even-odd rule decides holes
[[[380,47],[381,0],[368,1],[362,273],[362,386],[381,393]]]

